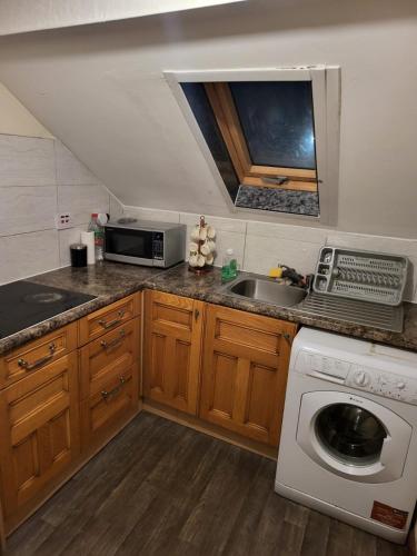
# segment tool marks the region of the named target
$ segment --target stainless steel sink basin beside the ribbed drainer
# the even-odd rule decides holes
[[[235,296],[267,301],[279,307],[292,307],[302,301],[307,295],[302,288],[262,278],[240,278],[226,289]]]

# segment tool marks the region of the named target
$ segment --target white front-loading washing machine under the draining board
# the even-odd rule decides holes
[[[405,543],[417,496],[417,354],[302,328],[275,489]]]

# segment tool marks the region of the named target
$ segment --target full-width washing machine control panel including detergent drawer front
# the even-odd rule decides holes
[[[309,350],[301,350],[295,370],[385,398],[417,405],[417,378],[398,373],[387,373]]]

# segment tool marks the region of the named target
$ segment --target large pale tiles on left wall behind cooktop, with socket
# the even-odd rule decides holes
[[[91,212],[121,211],[100,180],[54,139],[0,135],[0,284],[69,265]],[[57,230],[57,212],[73,228]]]

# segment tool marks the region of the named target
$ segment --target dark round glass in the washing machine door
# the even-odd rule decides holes
[[[387,431],[380,420],[363,407],[335,404],[316,419],[316,434],[328,450],[342,461],[377,461]]]

